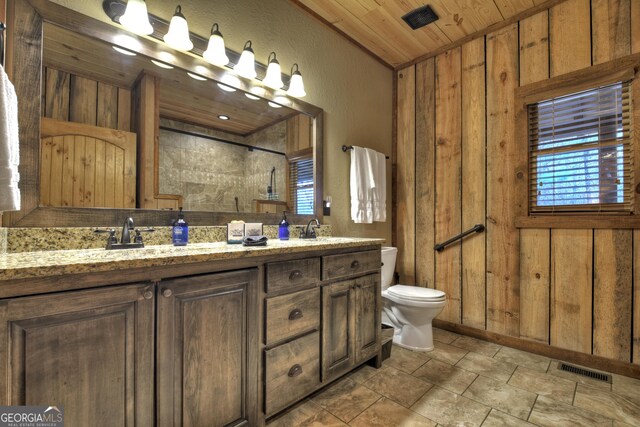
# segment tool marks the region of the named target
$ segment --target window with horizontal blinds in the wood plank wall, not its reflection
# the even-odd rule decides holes
[[[632,210],[630,82],[528,105],[530,213]]]

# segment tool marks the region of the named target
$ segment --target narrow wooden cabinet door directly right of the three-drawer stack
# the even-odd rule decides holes
[[[347,372],[355,363],[353,331],[355,281],[322,288],[322,380]]]

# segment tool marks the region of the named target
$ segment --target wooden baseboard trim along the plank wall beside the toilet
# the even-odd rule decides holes
[[[633,363],[607,359],[605,357],[595,356],[593,354],[580,353],[578,351],[554,347],[541,342],[510,337],[508,335],[502,335],[495,332],[472,328],[470,326],[460,325],[458,323],[447,322],[444,320],[433,319],[433,326],[435,326],[436,328],[455,332],[460,335],[466,335],[473,338],[491,341],[496,344],[516,348],[518,350],[528,351],[530,353],[539,354],[541,356],[546,356],[552,359],[562,360],[565,362],[575,363],[605,372],[611,372],[618,375],[640,379],[640,365],[636,365]]]

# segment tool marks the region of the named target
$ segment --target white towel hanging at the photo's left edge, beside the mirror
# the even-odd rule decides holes
[[[0,66],[0,212],[20,210],[18,98]]]

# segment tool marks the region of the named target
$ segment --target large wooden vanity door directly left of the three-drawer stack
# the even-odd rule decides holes
[[[257,286],[256,269],[158,285],[159,426],[258,424]]]

